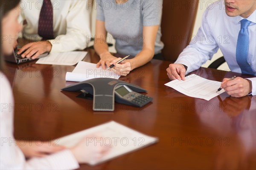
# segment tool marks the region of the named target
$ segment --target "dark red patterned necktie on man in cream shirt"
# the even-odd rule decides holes
[[[54,39],[52,16],[52,3],[50,0],[44,0],[38,23],[38,35],[43,37],[43,40]]]

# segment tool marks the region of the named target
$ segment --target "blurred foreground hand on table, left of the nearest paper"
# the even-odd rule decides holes
[[[26,158],[43,157],[65,149],[62,146],[54,146],[49,141],[16,141],[18,147]]]

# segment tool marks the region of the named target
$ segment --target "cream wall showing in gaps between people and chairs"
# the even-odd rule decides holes
[[[200,25],[201,25],[201,18],[203,16],[203,13],[205,11],[205,9],[207,9],[207,5],[210,5],[211,3],[215,2],[217,0],[200,0],[199,4],[198,4],[198,13],[196,16],[196,20],[195,20],[195,26],[193,29],[193,35],[196,35]],[[93,15],[92,15],[92,34],[95,35],[95,20],[96,20],[96,10],[93,10]],[[113,40],[113,39],[112,39]],[[114,42],[113,42],[114,43]],[[111,52],[116,52],[116,50],[114,49],[114,47],[111,47],[109,49]],[[218,50],[218,52],[213,56],[212,61],[215,61],[217,58],[221,57],[222,53],[220,50]],[[207,67],[209,66],[210,63],[212,63],[212,61],[207,61],[203,67]],[[222,64],[219,69],[221,70],[229,70],[229,67],[227,66],[227,63]]]

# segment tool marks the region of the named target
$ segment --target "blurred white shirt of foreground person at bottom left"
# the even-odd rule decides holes
[[[14,101],[8,79],[0,72],[0,169],[77,169],[79,164],[70,150],[63,150],[43,158],[26,160],[13,136]]]

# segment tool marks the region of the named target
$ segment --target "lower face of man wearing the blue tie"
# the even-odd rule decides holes
[[[256,9],[256,0],[224,0],[226,14],[230,17],[247,18]]]

